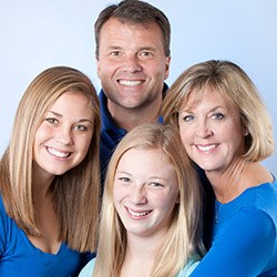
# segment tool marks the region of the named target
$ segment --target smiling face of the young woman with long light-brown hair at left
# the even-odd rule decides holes
[[[37,173],[61,175],[85,157],[93,135],[93,111],[82,93],[63,93],[44,114],[33,144]]]

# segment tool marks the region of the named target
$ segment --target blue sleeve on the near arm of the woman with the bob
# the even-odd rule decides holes
[[[257,276],[273,255],[275,239],[276,227],[266,213],[242,209],[222,226],[192,276]]]

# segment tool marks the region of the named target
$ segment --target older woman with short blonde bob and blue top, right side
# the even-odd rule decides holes
[[[260,163],[274,152],[274,134],[253,81],[230,61],[192,65],[162,114],[216,196],[212,247],[192,276],[277,276],[277,182]]]

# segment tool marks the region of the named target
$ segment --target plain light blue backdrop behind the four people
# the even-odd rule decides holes
[[[28,84],[42,70],[70,65],[96,89],[93,23],[115,0],[1,0],[0,155],[8,145],[14,113]],[[167,83],[193,63],[228,59],[259,89],[277,133],[277,1],[152,0],[172,23],[172,64]],[[257,114],[257,116],[259,116]],[[277,155],[264,162],[277,174]]]

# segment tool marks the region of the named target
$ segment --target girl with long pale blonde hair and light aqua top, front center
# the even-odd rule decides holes
[[[84,276],[188,276],[203,252],[197,174],[173,125],[145,123],[109,164],[96,258]]]

